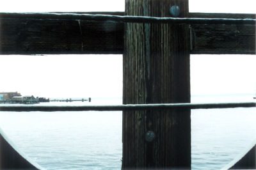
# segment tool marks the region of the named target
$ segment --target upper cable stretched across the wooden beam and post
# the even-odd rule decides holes
[[[205,24],[205,25],[253,25],[256,19],[220,19],[220,18],[174,18],[142,17],[79,13],[0,13],[0,18],[7,19],[47,19],[47,20],[88,20],[124,23],[164,23],[164,24]]]

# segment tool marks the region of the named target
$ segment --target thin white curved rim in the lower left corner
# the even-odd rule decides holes
[[[37,169],[40,170],[46,170],[45,168],[41,167],[40,165],[38,165],[34,160],[32,160],[31,158],[29,158],[28,156],[26,156],[25,153],[23,153],[22,151],[20,151],[15,144],[12,143],[12,141],[7,137],[6,134],[4,134],[3,130],[0,127],[0,134],[3,136],[3,138],[6,140],[6,142],[8,142],[10,144],[10,146],[12,146],[13,150],[17,151],[17,153],[19,153],[19,155],[21,157],[23,157],[24,159],[28,160],[28,162],[30,164],[32,164],[33,166],[35,166]]]

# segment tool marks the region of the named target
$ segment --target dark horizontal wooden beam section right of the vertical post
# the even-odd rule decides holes
[[[190,13],[189,17],[255,19],[254,14]],[[191,25],[191,54],[256,54],[255,26]]]

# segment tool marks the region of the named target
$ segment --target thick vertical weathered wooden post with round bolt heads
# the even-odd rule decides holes
[[[125,0],[125,15],[187,17],[188,0]],[[189,26],[125,24],[124,104],[190,102]],[[190,110],[124,111],[122,169],[191,168]]]

